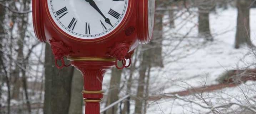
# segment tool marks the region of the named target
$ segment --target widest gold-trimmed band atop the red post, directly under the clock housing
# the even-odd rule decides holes
[[[82,57],[67,57],[70,61],[115,61],[115,58],[82,58]]]

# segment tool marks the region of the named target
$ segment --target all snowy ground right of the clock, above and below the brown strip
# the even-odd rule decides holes
[[[187,17],[181,17],[187,18]],[[189,28],[193,27],[197,22],[197,16],[188,19],[190,22],[186,22],[185,27],[179,28],[183,20],[178,18],[175,20],[176,28],[170,30],[170,33],[166,36],[166,45],[170,43],[168,35],[178,32],[185,34]],[[216,78],[220,76],[226,70],[243,69],[249,66],[255,61],[255,57],[252,55],[245,56],[249,50],[247,47],[241,49],[234,49],[235,33],[236,33],[236,18],[237,10],[230,8],[228,10],[217,10],[216,13],[210,14],[210,26],[211,32],[214,36],[214,42],[202,44],[200,39],[199,43],[195,45],[196,49],[186,47],[190,41],[182,42],[184,49],[179,49],[173,53],[188,54],[186,57],[173,61],[177,56],[172,55],[168,58],[164,58],[164,68],[154,69],[152,72],[151,80],[151,94],[161,94],[182,91],[187,88],[200,87],[206,83],[206,85],[216,84]],[[256,9],[251,9],[250,17],[251,25],[251,39],[256,44]],[[166,31],[168,31],[165,28]],[[189,34],[191,38],[197,34],[197,28],[193,28],[193,32]],[[195,40],[195,39],[194,39]],[[178,42],[178,41],[177,41]],[[172,43],[175,44],[175,43]],[[164,51],[169,51],[172,45],[166,46]],[[181,47],[182,47],[181,46]],[[195,48],[194,47],[194,48]],[[191,48],[191,49],[190,49]],[[180,55],[179,55],[180,56]],[[249,88],[249,84],[254,84],[251,89],[255,88],[255,82],[247,82],[239,87]],[[252,85],[253,85],[252,84]],[[225,102],[237,102],[235,98],[243,101],[244,96],[241,94],[239,87],[225,88],[220,91],[212,93],[206,93],[205,95],[215,97],[209,98],[212,104],[225,103]],[[248,91],[249,90],[245,90]],[[249,97],[253,94],[247,93]],[[255,95],[255,93],[254,93]],[[224,97],[221,100],[218,97]],[[186,98],[192,98],[187,96]],[[196,99],[195,99],[196,100]],[[235,108],[235,107],[232,107]],[[191,112],[192,111],[192,112]],[[149,105],[147,114],[193,114],[195,112],[208,112],[200,108],[198,105],[192,103],[185,103],[181,100],[163,99],[161,101],[153,102]]]

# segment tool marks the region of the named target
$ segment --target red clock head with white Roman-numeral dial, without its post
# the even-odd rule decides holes
[[[154,12],[155,0],[32,0],[36,37],[59,58],[123,60],[151,40]]]

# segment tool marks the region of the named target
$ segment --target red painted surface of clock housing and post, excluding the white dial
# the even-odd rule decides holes
[[[78,39],[62,31],[50,17],[47,0],[32,0],[36,37],[50,44],[55,58],[64,56],[130,59],[139,42],[148,43],[147,0],[129,0],[124,20],[113,32],[97,39]],[[53,40],[54,39],[54,40]],[[72,61],[84,75],[84,90],[101,91],[103,75],[115,62]],[[65,65],[64,65],[65,66]],[[84,94],[84,99],[101,99],[102,94]],[[99,114],[99,103],[86,103],[86,114]]]

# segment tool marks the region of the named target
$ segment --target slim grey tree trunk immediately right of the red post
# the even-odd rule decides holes
[[[120,63],[119,63],[120,64]],[[119,89],[120,89],[120,81],[122,76],[122,70],[113,68],[111,72],[110,86],[109,92],[107,93],[107,103],[106,107],[114,102],[116,102],[119,97]],[[118,104],[114,107],[108,109],[106,114],[116,114],[118,108]]]

